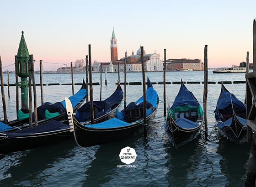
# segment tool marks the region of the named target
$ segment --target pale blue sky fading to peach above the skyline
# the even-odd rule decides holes
[[[112,27],[118,58],[140,45],[160,59],[204,58],[208,68],[252,63],[252,24],[256,0],[1,0],[0,56],[13,71],[21,31],[34,59],[56,70],[88,55],[110,62]],[[11,66],[9,66],[11,65]],[[6,67],[8,66],[8,67]],[[39,62],[35,70],[39,69]]]

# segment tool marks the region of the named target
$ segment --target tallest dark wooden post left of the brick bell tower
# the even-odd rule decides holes
[[[94,124],[94,109],[93,109],[93,89],[92,89],[92,75],[91,75],[91,44],[89,44],[89,76],[90,76],[90,113],[91,124]]]

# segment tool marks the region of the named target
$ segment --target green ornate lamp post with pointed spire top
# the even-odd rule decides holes
[[[29,64],[29,53],[27,49],[27,44],[23,36],[23,31],[21,32],[21,42],[19,45],[18,53],[16,55],[16,72],[21,78],[21,111],[23,113],[28,113],[28,102],[27,102],[27,77],[29,76],[28,64]]]

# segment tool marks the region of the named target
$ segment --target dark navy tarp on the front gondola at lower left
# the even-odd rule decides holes
[[[5,134],[8,136],[8,138],[16,138],[16,137],[35,134],[35,133],[51,132],[54,130],[62,130],[67,128],[69,128],[69,125],[60,123],[59,121],[56,121],[56,120],[52,120],[42,125],[26,128],[23,130],[16,130],[14,132],[6,132]]]

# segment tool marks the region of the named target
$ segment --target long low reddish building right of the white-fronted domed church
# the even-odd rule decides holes
[[[202,71],[203,62],[199,59],[168,59],[166,60],[166,71]]]

